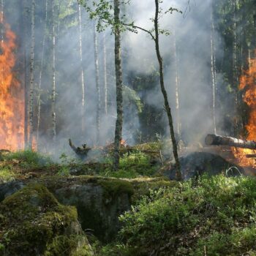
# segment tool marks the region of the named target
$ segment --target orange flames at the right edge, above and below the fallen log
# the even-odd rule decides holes
[[[256,56],[256,50],[255,50]],[[256,140],[256,59],[249,59],[249,68],[240,78],[239,89],[244,90],[244,102],[249,106],[249,119],[246,125],[247,140]],[[247,148],[233,148],[234,156],[239,160],[239,165],[245,167],[254,167],[255,150]]]

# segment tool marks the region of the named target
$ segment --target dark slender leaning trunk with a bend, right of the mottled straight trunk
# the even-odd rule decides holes
[[[165,100],[165,110],[168,117],[169,127],[170,127],[170,137],[173,143],[173,156],[176,162],[176,179],[181,180],[181,166],[178,160],[178,148],[176,143],[176,138],[174,135],[174,128],[173,128],[173,116],[171,114],[170,105],[167,97],[167,91],[165,90],[165,81],[164,81],[164,68],[163,68],[163,60],[162,56],[159,50],[159,28],[158,28],[158,20],[159,20],[159,0],[155,0],[156,4],[156,12],[155,12],[155,18],[154,18],[154,29],[155,29],[155,46],[156,46],[156,52],[157,52],[157,59],[159,62],[159,75],[160,75],[160,86],[162,95]]]

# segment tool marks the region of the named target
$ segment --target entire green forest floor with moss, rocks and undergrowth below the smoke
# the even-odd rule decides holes
[[[159,143],[123,154],[118,172],[96,156],[1,154],[0,255],[256,255],[254,177],[170,181]]]

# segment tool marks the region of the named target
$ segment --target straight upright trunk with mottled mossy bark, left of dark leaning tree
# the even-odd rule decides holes
[[[120,1],[114,0],[115,24],[120,23]],[[123,78],[121,69],[121,31],[119,26],[115,27],[115,66],[116,66],[116,130],[115,147],[113,153],[113,169],[118,170],[120,159],[120,142],[123,127]]]

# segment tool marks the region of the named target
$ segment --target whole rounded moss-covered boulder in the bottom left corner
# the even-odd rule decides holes
[[[0,205],[0,255],[93,255],[77,211],[30,184]]]

